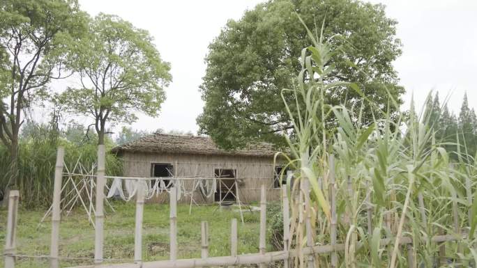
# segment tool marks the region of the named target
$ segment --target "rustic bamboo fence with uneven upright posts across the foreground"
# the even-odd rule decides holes
[[[63,169],[63,148],[59,148],[57,158],[56,158],[56,171],[54,177],[54,198],[53,198],[53,213],[52,213],[52,241],[50,247],[50,255],[42,256],[28,256],[16,254],[15,246],[15,230],[17,223],[17,207],[19,193],[18,191],[10,191],[9,203],[8,203],[8,219],[7,219],[7,228],[6,228],[6,245],[4,249],[4,258],[5,258],[5,267],[14,268],[15,260],[17,258],[43,258],[50,260],[50,267],[56,268],[60,265],[60,260],[74,259],[74,258],[65,258],[59,256],[59,224],[60,224],[60,200],[61,200],[61,172]],[[177,259],[177,198],[176,198],[176,187],[170,191],[170,257],[169,260],[159,260],[152,262],[143,262],[142,261],[142,217],[144,212],[144,195],[139,194],[137,197],[136,203],[136,214],[135,214],[135,246],[134,246],[134,260],[129,263],[121,264],[109,264],[103,265],[101,262],[108,260],[103,258],[103,240],[104,240],[104,230],[103,230],[103,200],[105,198],[102,189],[104,189],[104,157],[105,157],[105,148],[100,146],[98,148],[98,192],[96,198],[96,239],[95,239],[95,254],[94,259],[89,259],[94,261],[94,265],[85,265],[77,266],[75,268],[195,268],[195,267],[238,267],[239,265],[259,265],[259,267],[268,267],[273,262],[281,261],[284,268],[294,267],[290,260],[294,258],[303,258],[306,262],[308,268],[316,267],[315,258],[317,255],[329,254],[331,255],[331,267],[340,267],[338,263],[338,252],[346,250],[346,244],[336,243],[336,201],[335,201],[335,178],[334,173],[331,172],[329,175],[329,194],[331,196],[331,244],[327,245],[316,245],[313,242],[313,230],[311,228],[310,214],[306,213],[302,215],[302,218],[305,221],[305,238],[306,246],[301,247],[300,249],[291,249],[292,246],[292,237],[290,235],[290,223],[289,219],[289,199],[287,194],[287,188],[285,185],[282,185],[282,213],[283,213],[283,244],[284,248],[282,251],[272,251],[266,252],[266,187],[262,184],[261,187],[261,198],[260,198],[260,222],[259,222],[259,252],[250,253],[250,254],[241,254],[237,252],[237,220],[232,219],[231,222],[231,253],[228,256],[219,256],[211,257],[209,256],[209,224],[206,221],[201,223],[201,258],[191,258],[191,259]],[[330,159],[331,171],[333,171],[333,157]],[[310,184],[308,180],[303,180],[301,184],[301,200],[306,206],[310,206],[310,196],[309,196],[309,187]],[[143,191],[139,191],[143,192]],[[350,193],[351,194],[351,193]],[[456,209],[456,205],[453,205]],[[306,210],[310,211],[310,210]],[[455,213],[455,212],[454,212]],[[368,219],[371,217],[370,210],[368,210]],[[455,233],[452,235],[440,234],[430,238],[431,242],[440,244],[439,246],[439,260],[441,262],[446,261],[445,258],[445,243],[450,241],[459,241],[466,237],[466,235],[458,230],[457,217],[454,214],[454,228]],[[372,229],[372,226],[368,223],[368,228]],[[356,242],[356,251],[358,251],[365,242]],[[409,267],[416,267],[413,251],[413,240],[411,237],[400,237],[400,239],[380,239],[379,245],[381,247],[388,246],[390,244],[398,244],[401,249],[407,251],[407,263]]]

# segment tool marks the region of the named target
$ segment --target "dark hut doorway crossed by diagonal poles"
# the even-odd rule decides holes
[[[232,168],[215,168],[215,178],[218,178],[217,191],[214,201],[222,203],[236,201],[236,170]]]

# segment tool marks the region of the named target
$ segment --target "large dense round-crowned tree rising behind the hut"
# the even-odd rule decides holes
[[[354,82],[379,109],[397,109],[388,104],[393,104],[391,96],[399,105],[404,93],[392,65],[401,44],[395,37],[397,22],[386,17],[384,6],[272,0],[248,10],[239,21],[230,20],[209,46],[201,86],[205,106],[197,118],[200,132],[224,148],[236,148],[253,139],[279,143],[278,133],[292,129],[280,93],[294,86],[301,50],[311,43],[297,14],[309,29],[318,29],[317,36],[324,22],[323,36],[337,52],[331,55],[334,69],[326,82]],[[326,102],[352,107],[361,97],[358,90],[342,86],[327,92]],[[370,106],[364,118],[372,118]]]

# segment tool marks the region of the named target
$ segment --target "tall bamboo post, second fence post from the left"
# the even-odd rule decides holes
[[[59,267],[59,226],[61,221],[61,180],[63,177],[63,159],[65,149],[59,147],[56,152],[56,164],[54,168],[53,205],[52,205],[52,241],[50,246],[50,267]]]

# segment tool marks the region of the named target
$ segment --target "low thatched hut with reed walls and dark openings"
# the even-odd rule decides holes
[[[153,134],[112,150],[123,159],[126,177],[154,177],[159,180],[183,180],[185,191],[194,202],[236,201],[251,203],[260,198],[265,184],[268,200],[280,198],[282,166],[274,164],[276,150],[269,143],[255,143],[241,150],[222,150],[204,136]],[[182,179],[179,179],[182,178]],[[185,178],[185,180],[184,180]],[[215,193],[206,197],[197,180],[215,179]],[[156,198],[164,202],[167,195]],[[181,201],[189,202],[189,198]]]

